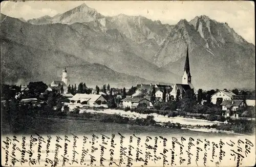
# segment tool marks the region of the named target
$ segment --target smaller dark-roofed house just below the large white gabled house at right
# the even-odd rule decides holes
[[[224,100],[222,103],[222,110],[236,111],[241,106],[246,106],[243,100]]]

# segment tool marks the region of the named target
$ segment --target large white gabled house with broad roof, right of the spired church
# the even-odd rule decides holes
[[[217,99],[222,102],[224,100],[232,100],[234,97],[236,97],[237,95],[234,94],[231,91],[228,91],[227,89],[221,90],[216,92],[215,94],[211,95],[211,102],[213,104],[217,103]]]

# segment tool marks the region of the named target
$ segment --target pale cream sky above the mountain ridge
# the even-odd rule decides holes
[[[144,16],[162,23],[176,24],[206,15],[227,22],[245,40],[255,45],[254,2],[252,1],[26,1],[1,2],[1,13],[25,20],[64,13],[86,3],[105,16]]]

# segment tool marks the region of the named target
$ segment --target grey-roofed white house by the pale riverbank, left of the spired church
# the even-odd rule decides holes
[[[150,107],[151,102],[146,98],[140,97],[126,97],[125,99],[121,100],[123,102],[123,107],[130,107],[135,108],[139,103],[145,103],[148,107]]]

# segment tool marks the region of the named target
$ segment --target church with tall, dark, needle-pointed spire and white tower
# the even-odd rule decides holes
[[[187,55],[184,66],[184,73],[182,76],[182,84],[175,84],[173,86],[172,92],[170,92],[170,96],[174,96],[176,99],[177,91],[180,90],[180,98],[183,98],[188,90],[193,89],[195,93],[197,93],[194,86],[191,84],[191,74],[190,74],[190,66],[189,66],[189,58],[188,58],[188,47],[187,47]]]

